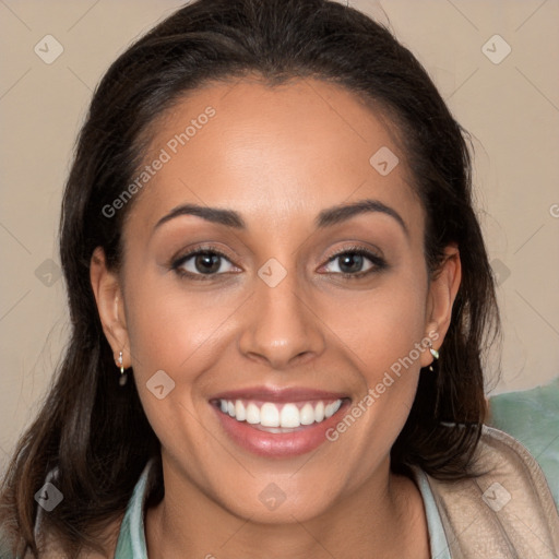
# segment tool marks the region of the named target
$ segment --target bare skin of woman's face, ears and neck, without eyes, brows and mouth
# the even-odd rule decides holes
[[[133,368],[162,442],[165,498],[146,513],[150,558],[428,558],[420,493],[389,463],[419,369],[432,361],[428,350],[336,442],[298,457],[271,460],[236,445],[209,400],[270,385],[361,401],[429,332],[438,335],[433,346],[442,345],[460,285],[459,251],[448,247],[429,281],[424,210],[395,129],[350,92],[318,80],[206,86],[158,123],[146,160],[207,105],[216,116],[133,201],[121,270],[107,270],[100,248],[92,259],[107,340]],[[369,163],[381,146],[400,158],[386,176]],[[362,199],[396,211],[407,234],[380,212],[314,228],[322,210]],[[247,229],[192,215],[154,228],[185,203],[235,210]],[[228,259],[206,282],[169,264],[200,243]],[[355,245],[388,267],[365,259],[357,271],[374,273],[344,278],[343,262],[330,258]],[[270,258],[287,272],[273,288],[258,275]],[[202,275],[194,261],[183,267]],[[176,383],[163,400],[146,388],[158,370]],[[272,483],[286,496],[274,511],[259,500]]]

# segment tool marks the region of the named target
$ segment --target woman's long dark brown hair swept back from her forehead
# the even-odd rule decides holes
[[[416,58],[382,25],[326,0],[198,0],[126,50],[93,96],[66,186],[60,254],[72,334],[48,397],[22,437],[3,479],[0,520],[14,545],[38,554],[34,493],[47,473],[63,501],[45,515],[68,556],[103,550],[99,531],[127,507],[159,443],[133,378],[121,388],[90,283],[103,247],[121,261],[122,222],[103,212],[129,185],[151,127],[187,92],[216,80],[260,74],[270,85],[313,76],[372,102],[404,139],[427,215],[425,255],[435,274],[456,242],[462,284],[436,373],[421,371],[392,468],[462,477],[485,417],[481,349],[498,330],[495,287],[472,203],[465,133]],[[133,377],[133,376],[132,376]]]

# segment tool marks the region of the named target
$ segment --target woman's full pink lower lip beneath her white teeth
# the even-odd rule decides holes
[[[298,427],[290,432],[262,431],[247,421],[237,421],[212,405],[225,432],[243,449],[265,457],[292,457],[311,452],[328,441],[326,431],[340,420],[341,412],[349,405],[343,401],[340,409],[320,424]]]

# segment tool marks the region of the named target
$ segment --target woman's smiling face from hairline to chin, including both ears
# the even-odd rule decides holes
[[[122,267],[97,251],[92,282],[166,485],[262,522],[380,490],[460,282],[454,259],[429,283],[390,122],[321,81],[216,84],[145,164]]]

